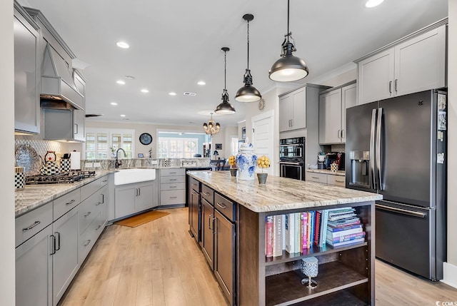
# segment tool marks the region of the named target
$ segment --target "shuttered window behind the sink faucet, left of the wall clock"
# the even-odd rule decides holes
[[[126,158],[132,158],[134,152],[134,130],[86,129],[86,159],[114,158],[118,148],[124,149]],[[124,156],[123,156],[124,157]]]

